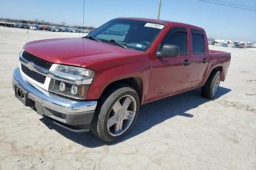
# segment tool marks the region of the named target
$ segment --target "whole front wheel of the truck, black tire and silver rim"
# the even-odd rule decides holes
[[[106,142],[122,138],[134,124],[140,109],[137,92],[119,85],[105,93],[91,123],[91,132]]]

